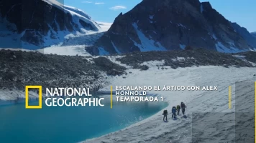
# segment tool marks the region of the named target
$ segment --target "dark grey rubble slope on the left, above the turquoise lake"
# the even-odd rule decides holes
[[[105,57],[89,61],[84,56],[58,56],[38,52],[0,50],[0,89],[26,85],[46,87],[85,87],[99,89],[106,73],[124,74],[125,68]]]

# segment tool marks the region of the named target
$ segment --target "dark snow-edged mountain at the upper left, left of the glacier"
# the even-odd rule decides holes
[[[55,0],[1,1],[0,29],[2,48],[22,49],[59,44],[70,34],[101,31],[84,11]]]

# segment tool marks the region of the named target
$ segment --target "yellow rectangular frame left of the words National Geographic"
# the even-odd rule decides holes
[[[37,106],[29,106],[29,89],[39,89],[39,105]],[[42,86],[26,86],[25,90],[26,94],[26,109],[42,109]]]

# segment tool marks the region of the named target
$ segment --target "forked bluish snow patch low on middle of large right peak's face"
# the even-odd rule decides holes
[[[139,36],[141,44],[137,44],[134,40],[132,41],[134,41],[134,45],[140,48],[140,51],[166,51],[165,47],[163,47],[159,42],[155,42],[152,39],[148,39],[142,33],[142,31],[138,29],[138,26],[136,23],[133,23],[132,26],[137,32],[137,35]]]

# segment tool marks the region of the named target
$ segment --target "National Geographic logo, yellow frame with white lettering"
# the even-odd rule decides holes
[[[29,105],[29,89],[38,89],[38,105]],[[89,88],[46,88],[46,107],[104,107],[103,97],[93,97]],[[25,89],[26,109],[42,109],[42,86],[26,86]]]

